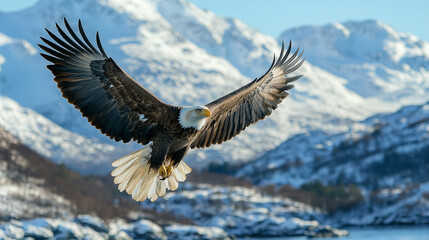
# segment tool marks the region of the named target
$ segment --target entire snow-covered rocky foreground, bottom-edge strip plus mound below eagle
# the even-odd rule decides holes
[[[102,221],[92,215],[75,218],[36,218],[0,224],[0,238],[21,239],[233,239],[246,236],[345,236],[347,231],[322,225],[323,214],[305,204],[263,196],[256,190],[187,184],[166,200],[144,204],[158,212],[186,217],[194,225],[130,217]],[[131,215],[130,215],[131,216]]]

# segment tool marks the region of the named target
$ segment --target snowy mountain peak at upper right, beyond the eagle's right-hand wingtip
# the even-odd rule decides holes
[[[345,86],[395,109],[428,100],[429,43],[375,20],[287,30],[314,65],[347,80]],[[379,103],[381,104],[381,103]]]

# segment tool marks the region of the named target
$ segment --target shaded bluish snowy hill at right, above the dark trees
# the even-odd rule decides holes
[[[296,187],[314,180],[357,183],[367,190],[398,187],[429,181],[428,149],[429,102],[372,116],[344,133],[294,136],[238,175]]]

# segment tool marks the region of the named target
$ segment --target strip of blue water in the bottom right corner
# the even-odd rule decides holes
[[[336,240],[429,240],[429,225],[421,226],[383,226],[364,228],[344,228],[350,236],[343,238],[323,238]],[[244,238],[245,239],[245,238]],[[243,239],[243,240],[244,240]],[[248,238],[247,240],[263,240],[267,238]],[[268,238],[269,240],[308,240],[307,237]]]

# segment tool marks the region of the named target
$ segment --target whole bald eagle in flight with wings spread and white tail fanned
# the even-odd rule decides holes
[[[99,34],[97,48],[88,40],[79,20],[80,37],[64,19],[68,34],[45,29],[52,40],[41,55],[62,95],[103,134],[116,141],[137,141],[142,149],[112,163],[118,189],[136,201],[155,201],[166,190],[176,190],[191,168],[183,158],[189,149],[221,144],[251,124],[269,116],[288,96],[289,84],[301,76],[286,77],[304,59],[299,49],[290,56],[284,43],[277,61],[260,78],[204,106],[180,107],[164,103],[122,70],[105,53]]]

